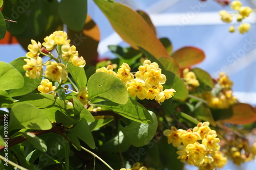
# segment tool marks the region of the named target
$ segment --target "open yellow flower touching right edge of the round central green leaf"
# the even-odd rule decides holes
[[[146,98],[147,90],[145,88],[145,82],[143,80],[133,79],[131,80],[131,82],[126,83],[125,86],[132,97],[137,95],[140,100]]]

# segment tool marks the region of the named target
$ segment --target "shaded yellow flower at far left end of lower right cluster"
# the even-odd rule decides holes
[[[179,137],[180,132],[182,131],[181,129],[177,130],[174,126],[172,126],[169,129],[166,129],[163,131],[163,135],[167,137],[168,139],[168,144],[173,143],[174,147],[179,147],[181,143],[181,138]]]

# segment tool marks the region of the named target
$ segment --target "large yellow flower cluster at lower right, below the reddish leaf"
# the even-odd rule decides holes
[[[213,164],[215,153],[220,150],[220,139],[215,130],[211,130],[209,122],[199,123],[193,130],[183,130],[171,127],[164,130],[168,143],[177,147],[178,159],[197,167],[211,164],[215,168],[224,166],[225,162]],[[216,158],[217,159],[217,158]]]

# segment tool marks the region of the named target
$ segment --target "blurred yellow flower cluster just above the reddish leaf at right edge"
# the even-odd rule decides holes
[[[233,91],[231,90],[233,82],[224,72],[220,73],[217,83],[222,88],[218,93],[218,96],[215,96],[211,92],[205,92],[202,94],[202,97],[208,103],[208,106],[216,109],[227,109],[231,105],[237,103],[237,97],[232,95]]]

